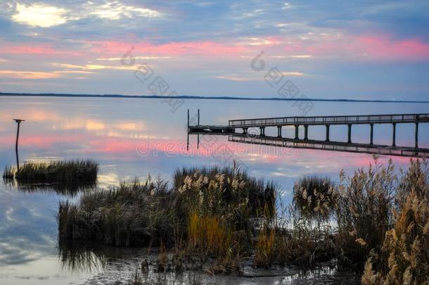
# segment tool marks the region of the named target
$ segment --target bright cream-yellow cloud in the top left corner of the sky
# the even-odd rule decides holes
[[[66,11],[56,6],[45,4],[16,4],[16,12],[12,20],[32,27],[52,27],[67,22]]]

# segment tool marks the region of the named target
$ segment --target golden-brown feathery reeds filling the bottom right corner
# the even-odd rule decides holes
[[[385,232],[380,253],[366,260],[362,284],[429,284],[427,170],[427,160],[411,161],[399,184],[395,224]]]

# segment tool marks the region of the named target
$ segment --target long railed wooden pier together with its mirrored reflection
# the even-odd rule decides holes
[[[199,114],[199,113],[198,113]],[[198,118],[199,122],[199,118]],[[346,115],[346,116],[316,116],[316,117],[284,117],[257,118],[245,120],[229,120],[228,125],[188,125],[188,134],[219,134],[227,135],[229,141],[245,144],[261,144],[267,146],[283,146],[293,148],[310,148],[326,151],[347,151],[354,153],[374,153],[388,156],[429,157],[429,148],[418,146],[419,124],[429,122],[429,114],[395,114],[395,115]],[[397,124],[414,124],[414,147],[397,146]],[[392,125],[392,144],[380,145],[373,143],[374,124]],[[309,139],[309,126],[325,126],[325,140]],[[331,125],[347,125],[347,142],[331,141]],[[352,126],[369,125],[369,142],[352,142]],[[283,137],[282,128],[295,127],[295,137]],[[274,127],[277,136],[268,136],[265,129]],[[304,137],[300,138],[300,127],[304,128]],[[250,132],[249,129],[257,129]]]

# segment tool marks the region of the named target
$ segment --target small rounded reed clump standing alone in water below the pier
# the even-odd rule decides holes
[[[293,205],[306,217],[328,219],[335,208],[336,193],[329,177],[305,176],[293,186]]]

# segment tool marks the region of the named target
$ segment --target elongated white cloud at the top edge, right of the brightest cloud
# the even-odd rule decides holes
[[[93,6],[93,4],[89,2],[89,6]],[[133,18],[134,16],[157,18],[161,15],[158,11],[149,8],[127,6],[120,1],[110,1],[103,5],[94,6],[94,11],[92,11],[91,14],[96,15],[98,18],[110,20],[119,20],[124,17]]]

